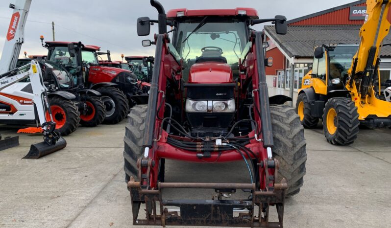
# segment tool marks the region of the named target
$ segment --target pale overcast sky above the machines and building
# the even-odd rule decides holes
[[[253,7],[260,18],[285,15],[288,20],[305,16],[320,10],[329,9],[352,0],[160,0],[166,9],[219,9]],[[12,9],[9,3],[15,0],[0,1],[0,52],[8,29]],[[23,52],[27,54],[47,54],[41,46],[40,35],[52,40],[51,22],[55,23],[56,41],[82,41],[86,45],[97,45],[101,50],[109,49],[113,60],[121,60],[126,55],[154,55],[154,46],[143,47],[141,41],[153,39],[157,25],[152,26],[151,35],[138,37],[136,21],[147,16],[157,19],[157,11],[149,0],[32,0],[24,30]],[[261,25],[254,27],[262,29]]]

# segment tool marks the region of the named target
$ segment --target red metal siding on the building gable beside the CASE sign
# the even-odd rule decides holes
[[[358,4],[356,6],[366,6],[366,3]],[[322,14],[316,17],[304,19],[299,22],[291,23],[289,25],[330,25],[330,24],[363,24],[364,20],[349,20],[350,7],[336,10],[330,13]],[[387,19],[391,22],[391,10],[387,15]]]

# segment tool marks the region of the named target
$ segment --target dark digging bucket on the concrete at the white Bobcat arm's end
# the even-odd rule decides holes
[[[67,146],[67,141],[63,137],[59,137],[55,144],[49,144],[46,141],[32,144],[28,154],[23,159],[39,159],[48,154],[61,150]]]

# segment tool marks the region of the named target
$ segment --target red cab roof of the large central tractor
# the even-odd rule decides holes
[[[241,12],[239,12],[241,11]],[[245,11],[245,14],[243,12]],[[235,8],[235,9],[196,9],[186,8],[171,9],[167,12],[167,19],[174,20],[178,12],[184,12],[184,17],[202,17],[202,16],[246,16],[249,19],[258,19],[258,12],[254,8]],[[183,17],[183,16],[182,16]],[[180,18],[180,17],[179,17]]]

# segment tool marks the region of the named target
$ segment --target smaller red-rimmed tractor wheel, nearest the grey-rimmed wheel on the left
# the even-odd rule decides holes
[[[82,102],[86,101],[88,106],[87,109],[90,113],[87,115],[80,114],[80,124],[83,127],[96,127],[101,124],[106,110],[104,109],[103,102],[99,99],[99,97],[94,95],[82,95],[80,100]]]

